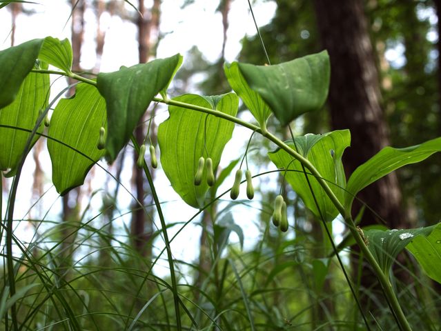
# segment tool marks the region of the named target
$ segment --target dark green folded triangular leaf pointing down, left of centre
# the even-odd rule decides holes
[[[182,56],[176,54],[166,59],[156,59],[130,68],[122,67],[117,72],[98,75],[97,87],[106,99],[106,158],[110,163],[130,139],[155,95],[168,87],[180,63]]]

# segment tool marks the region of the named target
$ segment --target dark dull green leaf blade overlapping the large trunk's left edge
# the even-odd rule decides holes
[[[260,94],[282,126],[322,108],[326,101],[331,72],[326,50],[275,66],[238,66],[248,86]]]

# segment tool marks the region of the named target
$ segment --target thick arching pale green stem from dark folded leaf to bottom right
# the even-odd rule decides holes
[[[154,98],[153,101],[166,103],[171,106],[187,108],[190,110],[197,110],[199,112],[205,112],[207,114],[212,114],[215,117],[220,117],[222,119],[232,121],[233,123],[237,123],[241,126],[244,126],[245,128],[248,128],[253,131],[257,131],[260,134],[262,134],[262,130],[260,130],[260,128],[258,128],[257,126],[255,126],[251,123],[248,123],[246,121],[243,121],[242,119],[238,119],[237,117],[233,117],[231,115],[224,114],[223,112],[219,112],[218,110],[212,110],[209,108],[194,106],[194,105],[190,105],[188,103],[175,101],[173,99],[169,99],[169,100],[165,101],[164,99]],[[366,257],[366,260],[371,265],[371,268],[373,268],[373,272],[375,273],[375,275],[378,278],[378,281],[380,281],[380,284],[382,285],[382,288],[384,290],[384,295],[386,296],[386,298],[389,300],[389,302],[391,304],[392,313],[395,314],[395,317],[397,317],[397,319],[398,319],[400,329],[406,330],[406,331],[412,330],[409,325],[409,322],[407,321],[406,317],[404,316],[404,312],[402,311],[402,308],[400,306],[400,303],[398,302],[398,299],[395,295],[395,292],[393,292],[393,289],[392,289],[391,283],[389,282],[388,276],[386,274],[384,274],[384,272],[380,268],[380,265],[377,263],[377,261],[375,260],[375,258],[371,254],[371,251],[369,250],[366,243],[364,242],[364,238],[362,238],[362,235],[360,234],[360,232],[358,232],[358,230],[355,226],[355,223],[353,222],[353,219],[351,217],[351,212],[346,210],[346,208],[344,208],[344,205],[342,205],[340,200],[337,199],[334,192],[329,187],[328,183],[326,183],[326,181],[322,178],[320,172],[318,172],[318,170],[314,167],[314,165],[310,161],[308,161],[308,159],[305,159],[304,157],[302,157],[301,154],[295,152],[295,150],[293,150],[291,147],[286,145],[286,143],[284,143],[283,141],[281,141],[280,139],[275,137],[270,132],[266,132],[265,134],[262,134],[262,135],[264,137],[266,137],[267,139],[269,139],[270,141],[272,141],[273,143],[275,143],[282,150],[288,152],[288,154],[290,154],[292,157],[297,159],[297,161],[300,161],[300,163],[302,163],[302,165],[304,165],[304,167],[306,169],[308,169],[311,172],[311,174],[313,174],[315,179],[317,179],[318,183],[320,184],[320,186],[322,186],[326,195],[329,197],[329,199],[331,199],[331,201],[335,205],[335,208],[337,208],[338,212],[340,212],[340,214],[342,215],[342,217],[344,219],[344,223],[346,223],[346,225],[348,226],[357,245],[359,245],[360,250],[362,250],[364,256]]]

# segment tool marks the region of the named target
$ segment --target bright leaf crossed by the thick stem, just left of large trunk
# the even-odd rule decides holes
[[[351,143],[349,130],[337,130],[320,135],[306,134],[303,137],[295,138],[295,142],[299,152],[313,163],[315,168],[322,174],[322,177],[329,182],[329,186],[337,198],[343,201],[343,189],[346,186],[346,179],[342,165],[342,154],[344,149]],[[292,141],[286,143],[295,149]],[[300,195],[306,207],[316,217],[320,217],[320,212],[322,212],[325,221],[335,219],[338,211],[331,202],[331,199],[326,195],[317,180],[312,175],[308,175],[320,212],[317,210],[299,161],[293,161],[294,158],[288,152],[281,149],[269,152],[268,156],[277,168],[297,170],[286,172],[285,179],[290,183],[293,190]]]

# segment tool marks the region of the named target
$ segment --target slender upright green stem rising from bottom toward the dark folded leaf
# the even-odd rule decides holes
[[[135,150],[137,153],[139,153],[139,145],[138,142],[135,139],[135,136],[132,134],[131,141],[133,143],[133,146],[135,147]],[[167,259],[168,259],[168,266],[170,268],[170,278],[172,281],[172,289],[173,289],[173,301],[175,303],[175,314],[176,314],[176,324],[177,324],[177,330],[182,330],[181,325],[181,314],[179,313],[179,295],[177,292],[177,282],[176,282],[176,275],[175,275],[175,265],[173,264],[173,255],[170,248],[170,241],[168,240],[168,234],[167,234],[167,225],[166,220],[164,219],[164,214],[162,213],[161,209],[161,203],[159,202],[159,198],[156,193],[155,185],[153,184],[153,179],[150,174],[150,170],[148,170],[147,164],[144,161],[144,173],[146,174],[147,181],[150,185],[150,190],[152,192],[153,201],[155,201],[155,205],[157,207],[157,212],[159,216],[159,220],[161,221],[161,230],[162,235],[164,236],[164,242],[166,244],[166,250],[167,250]]]

